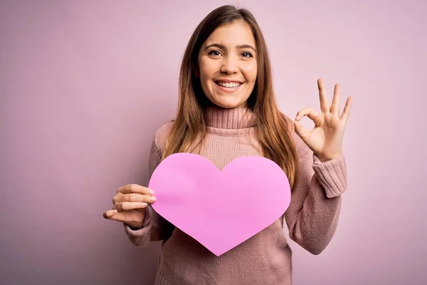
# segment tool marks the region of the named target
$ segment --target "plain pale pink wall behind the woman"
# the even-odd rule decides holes
[[[1,1],[1,284],[152,284],[159,244],[135,247],[102,212],[147,182],[186,43],[229,3]],[[295,284],[421,284],[426,1],[238,4],[265,34],[283,112],[320,110],[320,77],[330,100],[337,82],[342,106],[354,96],[339,226],[319,256],[291,242]]]

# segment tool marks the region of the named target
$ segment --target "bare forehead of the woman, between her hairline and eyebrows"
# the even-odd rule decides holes
[[[250,44],[255,47],[255,38],[251,27],[243,21],[235,21],[216,28],[206,39],[205,46],[211,43],[221,43],[224,46],[237,46]],[[256,47],[255,47],[256,48]]]

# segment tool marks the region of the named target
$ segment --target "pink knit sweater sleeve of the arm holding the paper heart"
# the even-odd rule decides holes
[[[149,152],[148,179],[151,178],[157,165],[159,165],[160,160],[161,154],[154,140]],[[171,236],[172,231],[174,230],[174,226],[157,214],[151,205],[149,205],[145,210],[145,217],[141,229],[134,230],[125,223],[123,223],[123,226],[125,227],[125,232],[127,237],[129,237],[130,242],[138,247],[147,247],[149,242],[166,240]]]

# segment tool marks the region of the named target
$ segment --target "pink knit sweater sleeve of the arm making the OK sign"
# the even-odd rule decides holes
[[[285,220],[290,239],[308,252],[320,254],[337,229],[341,194],[347,189],[347,169],[342,153],[321,162],[302,140],[297,145],[298,177]]]

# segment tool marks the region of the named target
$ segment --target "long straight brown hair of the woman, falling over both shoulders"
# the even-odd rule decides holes
[[[258,76],[247,107],[255,115],[255,132],[262,154],[282,167],[293,187],[297,177],[297,152],[290,135],[289,119],[278,110],[275,101],[270,58],[263,33],[250,11],[230,5],[211,11],[197,26],[186,46],[179,74],[178,111],[162,159],[176,152],[189,152],[190,147],[199,145],[205,137],[204,108],[210,103],[201,88],[200,79],[194,74],[199,66],[199,50],[216,28],[233,21],[244,21],[251,27],[257,46]]]

